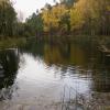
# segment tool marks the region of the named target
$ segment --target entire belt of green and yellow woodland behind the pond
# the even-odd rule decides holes
[[[109,35],[110,0],[61,0],[45,4],[25,22],[16,18],[13,3],[0,0],[0,37],[43,35]]]

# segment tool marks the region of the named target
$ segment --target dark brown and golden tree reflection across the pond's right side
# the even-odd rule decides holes
[[[84,48],[82,48],[84,47]],[[96,91],[110,91],[109,89],[109,61],[105,55],[97,51],[94,44],[50,44],[36,43],[32,46],[23,48],[26,53],[33,54],[34,57],[41,57],[43,62],[51,68],[54,65],[61,67],[61,77],[69,73],[70,76],[79,75],[79,77],[92,80],[91,89]],[[68,72],[69,70],[69,72]]]

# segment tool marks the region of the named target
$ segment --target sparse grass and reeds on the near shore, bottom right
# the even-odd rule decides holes
[[[69,95],[66,100],[67,90]],[[103,92],[81,95],[76,89],[65,86],[61,100],[62,110],[110,110],[109,96],[110,94]]]

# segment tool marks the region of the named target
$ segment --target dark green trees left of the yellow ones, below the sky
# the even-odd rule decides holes
[[[20,18],[22,19],[22,18]],[[0,37],[35,36],[43,32],[41,14],[33,13],[25,22],[16,18],[10,0],[0,0]]]

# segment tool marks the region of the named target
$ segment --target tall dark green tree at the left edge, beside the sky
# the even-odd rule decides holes
[[[0,1],[0,35],[12,36],[16,22],[16,13],[9,0]]]

